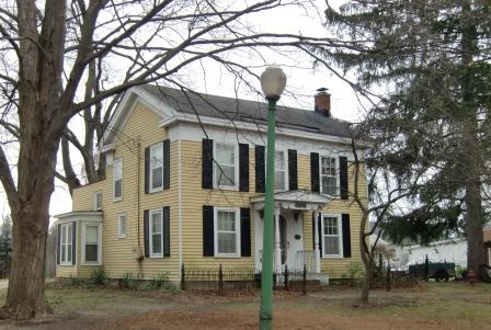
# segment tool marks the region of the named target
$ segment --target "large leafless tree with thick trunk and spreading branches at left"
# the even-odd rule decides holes
[[[215,61],[249,83],[254,53],[305,45],[342,46],[335,39],[256,33],[248,18],[286,2],[217,3],[207,0],[2,0],[0,5],[0,180],[13,219],[13,253],[3,315],[28,319],[50,311],[44,293],[48,206],[55,178],[80,184],[69,143],[81,153],[88,180],[104,178],[94,140],[116,95],[160,82],[185,88],[182,71]],[[349,46],[346,44],[346,46]],[[250,56],[250,54],[248,55]],[[124,68],[118,73],[114,64]],[[68,123],[80,114],[84,135]],[[64,171],[56,172],[61,144]],[[101,166],[96,168],[96,163]],[[15,167],[16,164],[16,167]]]

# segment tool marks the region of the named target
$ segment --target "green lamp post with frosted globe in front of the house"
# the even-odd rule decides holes
[[[266,153],[266,195],[263,218],[263,262],[261,271],[260,329],[272,329],[273,320],[273,208],[274,208],[274,156],[276,102],[286,86],[283,70],[270,66],[261,75],[261,88],[267,100],[267,153]]]

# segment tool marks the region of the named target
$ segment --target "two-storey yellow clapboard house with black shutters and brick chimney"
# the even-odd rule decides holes
[[[336,278],[361,262],[361,212],[346,123],[324,90],[315,103],[276,112],[274,266]],[[100,141],[106,179],[75,190],[73,210],[57,216],[57,276],[260,270],[266,124],[260,102],[128,90]]]

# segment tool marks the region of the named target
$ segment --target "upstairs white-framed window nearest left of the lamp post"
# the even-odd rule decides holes
[[[237,187],[237,147],[235,145],[216,144],[214,150],[215,185],[218,187]]]

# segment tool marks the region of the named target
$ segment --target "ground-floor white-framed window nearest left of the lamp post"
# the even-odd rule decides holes
[[[233,208],[215,208],[215,255],[239,257],[239,214]]]

